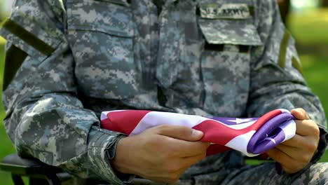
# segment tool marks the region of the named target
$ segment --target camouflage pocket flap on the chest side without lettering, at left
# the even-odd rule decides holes
[[[80,1],[67,4],[68,29],[92,30],[133,36],[132,12],[129,6],[106,1]]]

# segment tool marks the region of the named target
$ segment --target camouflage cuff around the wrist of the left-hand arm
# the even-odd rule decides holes
[[[119,174],[120,179],[111,167],[112,155],[109,155],[109,153],[115,153],[116,145],[122,137],[125,137],[125,135],[100,128],[91,130],[89,134],[88,160],[92,165],[90,170],[111,184],[125,184],[135,177]]]

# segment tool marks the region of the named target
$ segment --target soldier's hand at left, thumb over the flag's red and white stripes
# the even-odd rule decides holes
[[[184,126],[159,125],[118,142],[111,164],[125,174],[175,182],[206,155],[209,143],[198,142],[203,132]]]

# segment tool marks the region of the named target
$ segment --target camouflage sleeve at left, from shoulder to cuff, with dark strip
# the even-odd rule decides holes
[[[62,1],[16,1],[1,29],[7,39],[4,124],[20,156],[82,178],[123,184],[110,165],[118,132],[99,128],[76,97],[74,58],[64,34]],[[17,68],[16,72],[13,68]]]

